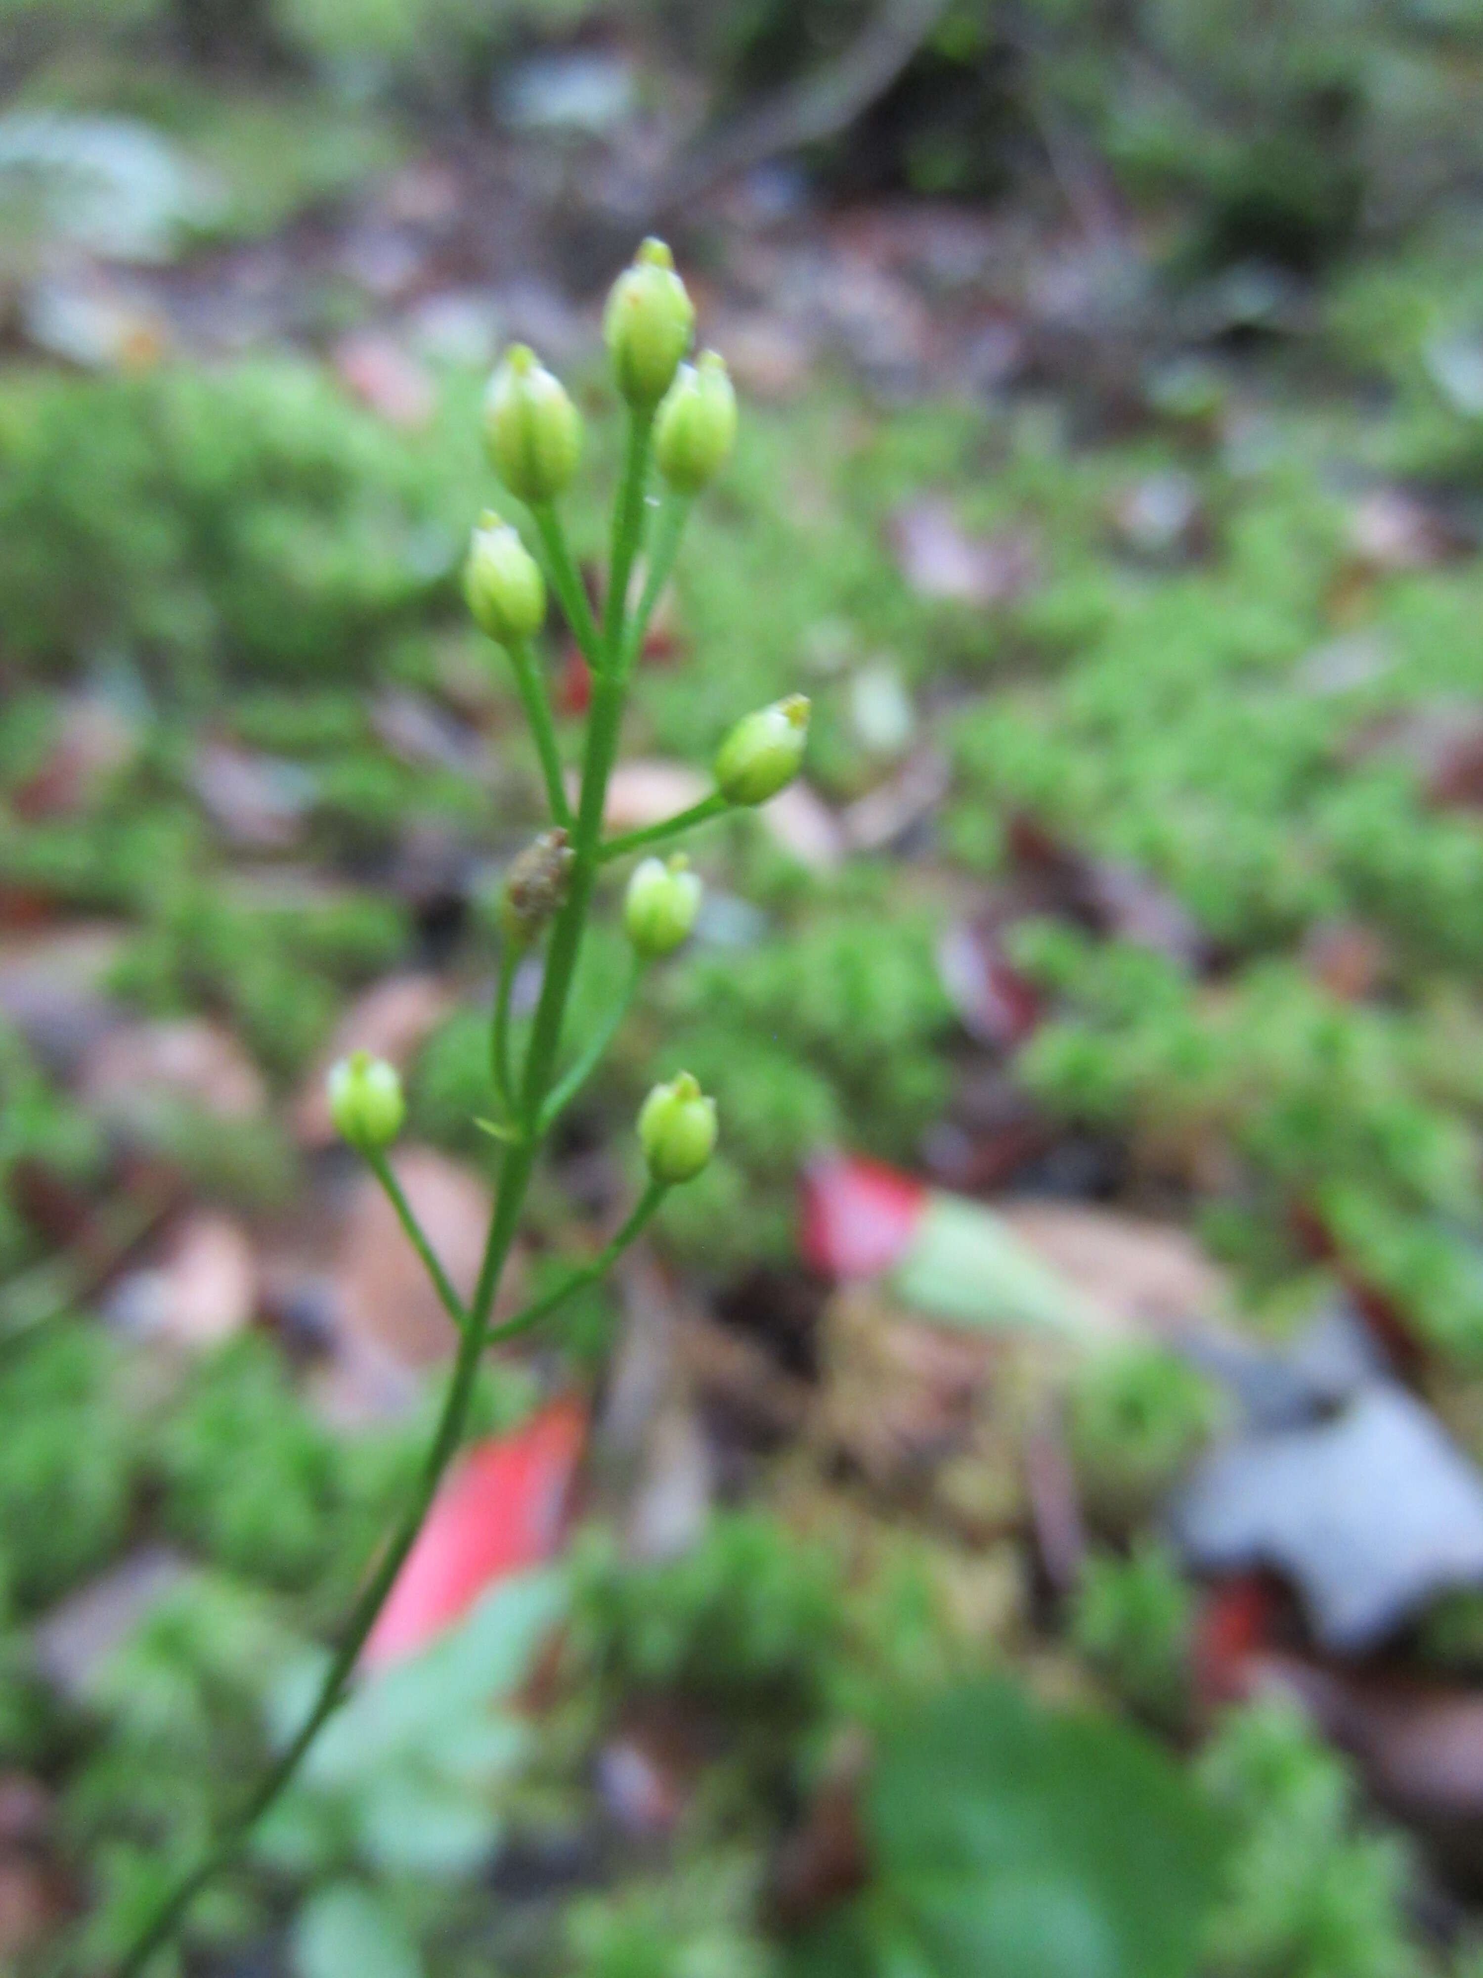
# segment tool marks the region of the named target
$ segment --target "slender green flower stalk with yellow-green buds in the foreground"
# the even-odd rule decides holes
[[[668,1189],[698,1175],[716,1145],[716,1106],[688,1072],[654,1086],[639,1114],[649,1185],[627,1220],[564,1284],[512,1319],[492,1323],[500,1278],[546,1137],[611,1044],[643,969],[686,940],[700,910],[700,880],[684,858],[645,858],[637,866],[625,900],[625,928],[633,947],[631,981],[613,997],[597,1034],[571,1052],[564,1068],[567,999],[603,866],[734,807],[765,803],[791,781],[803,762],[809,704],[791,696],[745,716],[732,730],[716,756],[716,789],[704,803],[647,831],[603,839],[607,783],[645,627],[668,582],[690,502],[720,471],[736,437],[736,398],[722,360],[704,352],[694,366],[684,362],[692,332],[694,309],[674,273],[670,251],[662,241],[649,239],[615,283],[603,316],[613,376],[627,409],[627,447],[613,502],[601,623],[587,603],[558,508],[581,459],[581,417],[562,384],[524,346],[508,350],[490,380],[484,443],[506,491],[528,510],[540,560],[518,528],[486,510],[473,532],[465,595],[480,629],[508,657],[542,771],[550,827],[514,860],[502,896],[500,987],[490,1013],[490,1092],[498,1118],[479,1122],[498,1143],[482,1264],[465,1304],[397,1185],[388,1159],[388,1147],[405,1116],[395,1070],[364,1052],[336,1064],[330,1072],[336,1127],[390,1197],[459,1331],[459,1347],[417,1482],[346,1616],[308,1715],[216,1845],[138,1931],[117,1966],[119,1978],[134,1978],[174,1936],[194,1897],[239,1855],[253,1826],[291,1782],[320,1729],[344,1701],[366,1638],[463,1444],[479,1367],[488,1347],[530,1331],[573,1292],[599,1278],[639,1236]],[[658,502],[651,500],[649,491],[653,469],[662,483]],[[645,582],[637,605],[629,609],[631,578],[641,558]],[[548,587],[593,673],[575,805],[567,797],[556,724],[534,651],[546,623]],[[542,949],[540,999],[524,1060],[516,1062],[510,981],[516,965]]]

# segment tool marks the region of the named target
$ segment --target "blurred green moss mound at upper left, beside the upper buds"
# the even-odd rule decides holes
[[[12,663],[117,647],[198,700],[223,671],[354,676],[451,597],[473,441],[413,447],[316,368],[8,374],[0,607]]]

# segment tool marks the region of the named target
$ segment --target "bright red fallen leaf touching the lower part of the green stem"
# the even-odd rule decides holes
[[[469,1450],[433,1499],[366,1642],[368,1667],[415,1654],[494,1580],[552,1557],[585,1432],[585,1406],[566,1396],[512,1436]]]

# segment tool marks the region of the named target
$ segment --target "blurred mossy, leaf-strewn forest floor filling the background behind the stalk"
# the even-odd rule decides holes
[[[526,1282],[654,1076],[722,1153],[488,1369],[516,1450],[581,1396],[560,1559],[358,1689],[160,1970],[1479,1968],[1483,1559],[1398,1519],[1337,1646],[1178,1505],[1277,1420],[1240,1349],[1309,1426],[1406,1393],[1483,1519],[1481,174],[1475,0],[0,4],[0,1968],[109,1970],[411,1474],[449,1341],[316,1094],[395,1056],[477,1254],[540,827],[479,396],[567,380],[595,576],[654,229],[742,439],[619,809],[815,728]],[[579,1027],[621,967],[605,896]],[[916,1276],[801,1254],[840,1155],[951,1199]]]

